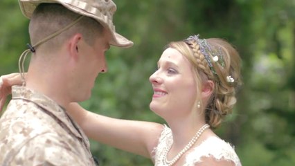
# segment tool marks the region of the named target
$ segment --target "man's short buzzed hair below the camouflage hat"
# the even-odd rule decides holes
[[[61,4],[41,3],[33,12],[30,19],[29,33],[31,44],[34,45],[45,37],[52,35],[71,24],[80,15],[68,10]],[[102,34],[103,27],[95,19],[83,17],[77,24],[65,30],[60,35],[49,39],[42,47],[43,50],[52,51],[52,48],[59,48],[66,39],[69,39],[75,33],[81,33],[89,45],[93,45],[96,37]]]

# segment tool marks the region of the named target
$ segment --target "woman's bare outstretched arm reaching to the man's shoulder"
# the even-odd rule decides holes
[[[66,109],[89,138],[147,158],[152,158],[163,130],[162,124],[109,118],[87,111],[77,103]]]

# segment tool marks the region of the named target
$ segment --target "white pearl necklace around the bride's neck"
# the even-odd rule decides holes
[[[163,153],[163,163],[165,163],[165,165],[167,166],[171,166],[171,165],[174,165],[177,160],[179,160],[179,158],[186,152],[188,151],[188,149],[190,149],[190,147],[193,147],[193,145],[195,144],[195,142],[197,142],[197,139],[199,138],[199,136],[201,136],[201,134],[203,133],[203,131],[205,129],[207,129],[209,126],[209,124],[204,124],[203,127],[201,127],[201,129],[199,129],[199,131],[197,131],[197,133],[195,134],[195,136],[190,140],[190,142],[188,142],[188,145],[186,145],[186,147],[184,147],[184,149],[182,149],[178,154],[177,156],[175,156],[175,158],[173,158],[172,160],[168,160],[167,159],[167,155],[168,155],[168,152],[170,151],[171,147],[172,147],[172,144],[173,144],[173,140],[171,142],[170,145],[168,145],[168,147],[166,147],[166,150],[164,151]]]

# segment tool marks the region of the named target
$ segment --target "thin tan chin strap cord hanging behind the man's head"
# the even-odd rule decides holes
[[[26,56],[28,55],[28,53],[35,53],[35,48],[37,46],[39,46],[40,44],[43,44],[44,42],[47,42],[49,39],[52,39],[53,37],[56,37],[57,35],[60,35],[61,33],[63,33],[65,30],[68,30],[69,28],[71,28],[72,26],[74,26],[75,24],[78,23],[78,21],[80,21],[84,16],[80,16],[78,17],[78,19],[75,19],[75,21],[73,21],[71,24],[65,26],[64,28],[57,30],[55,33],[49,35],[48,37],[45,37],[44,39],[42,39],[41,41],[37,42],[37,44],[34,44],[33,46],[30,44],[27,44],[28,49],[24,50],[23,53],[21,53],[21,56],[19,57],[19,73],[21,75],[21,82],[22,82],[22,86],[26,86],[26,80],[25,80],[25,69],[24,69],[24,62],[26,60]]]

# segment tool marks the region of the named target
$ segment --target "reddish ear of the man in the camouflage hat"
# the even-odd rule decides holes
[[[79,54],[79,47],[81,46],[82,35],[77,33],[69,39],[68,50],[71,57],[77,58]]]

